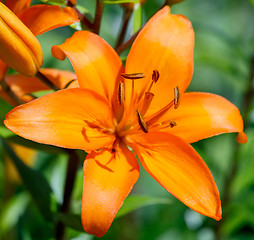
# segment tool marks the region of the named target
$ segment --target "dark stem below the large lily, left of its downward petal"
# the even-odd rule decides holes
[[[79,166],[79,156],[75,150],[67,149],[66,150],[69,159],[68,159],[68,168],[67,168],[67,175],[65,180],[65,187],[64,187],[64,198],[63,203],[59,209],[61,213],[67,213],[70,208],[71,202],[71,194],[74,187],[74,182]],[[62,222],[58,222],[56,225],[56,240],[63,240],[65,234],[65,226]]]

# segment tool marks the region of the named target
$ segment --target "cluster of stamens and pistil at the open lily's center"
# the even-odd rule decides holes
[[[144,90],[143,94],[139,96],[135,95],[134,84],[136,81],[143,79],[145,76],[143,73],[131,73],[122,74],[122,81],[120,81],[118,86],[118,103],[120,105],[120,111],[122,112],[121,117],[118,121],[116,127],[116,134],[119,137],[134,133],[138,129],[143,132],[148,133],[149,129],[159,130],[163,128],[173,128],[177,126],[174,120],[160,122],[159,119],[167,112],[169,108],[174,106],[175,109],[178,108],[180,104],[180,94],[179,88],[176,86],[174,88],[174,99],[169,102],[165,107],[159,111],[153,113],[152,115],[146,116],[146,113],[154,99],[154,93],[152,88],[160,78],[158,70],[153,70],[151,83],[148,85],[147,89]],[[126,103],[126,81],[131,81],[131,94],[128,103]],[[128,104],[128,105],[127,105]]]

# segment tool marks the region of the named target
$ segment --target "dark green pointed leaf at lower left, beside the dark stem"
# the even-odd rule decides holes
[[[2,142],[42,216],[46,220],[52,220],[52,210],[56,208],[56,201],[48,182],[40,172],[25,165],[4,139]]]

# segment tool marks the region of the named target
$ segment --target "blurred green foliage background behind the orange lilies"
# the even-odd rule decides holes
[[[95,0],[78,0],[78,4],[93,15]],[[136,13],[130,21],[126,39],[141,20],[144,24],[164,1],[148,0],[142,15]],[[254,239],[254,1],[253,0],[186,0],[174,5],[172,12],[188,17],[195,30],[195,68],[188,91],[202,91],[224,96],[241,111],[248,143],[236,143],[236,134],[226,134],[193,144],[211,170],[219,188],[223,219],[216,222],[204,217],[179,202],[152,179],[143,169],[122,211],[108,233],[101,239],[120,240],[253,240]],[[123,9],[120,5],[106,5],[100,35],[112,46],[121,26]],[[140,18],[141,16],[141,18]],[[39,36],[44,51],[43,67],[72,69],[68,60],[53,58],[50,49],[70,37],[74,29],[65,27]],[[121,55],[124,59],[127,52]],[[0,135],[10,142],[34,147],[32,168],[39,171],[49,183],[45,187],[39,174],[31,174],[25,184],[13,178],[7,164],[8,146],[0,138],[0,239],[54,239],[52,216],[36,205],[39,191],[45,191],[43,203],[50,203],[54,212],[63,200],[67,155],[57,148],[45,148],[22,141],[5,129],[4,115],[12,107],[0,100]],[[13,145],[9,146],[15,150]],[[38,150],[39,148],[39,150]],[[23,151],[23,150],[22,150]],[[59,153],[60,151],[60,153]],[[23,156],[28,156],[23,152]],[[82,155],[82,153],[80,153]],[[81,156],[84,158],[85,156]],[[14,156],[15,158],[15,156]],[[22,158],[22,156],[20,156]],[[21,171],[24,166],[20,166]],[[31,195],[33,174],[41,181],[42,189]],[[71,201],[71,212],[80,214],[82,194],[82,161]],[[43,188],[43,186],[45,188]],[[48,198],[47,191],[50,192]],[[47,200],[47,201],[46,201]],[[142,206],[142,207],[141,207]],[[133,209],[137,208],[135,211]],[[44,215],[41,211],[44,211]],[[125,214],[125,212],[128,212]],[[60,216],[61,217],[61,216]],[[73,216],[72,216],[73,217]],[[52,220],[52,219],[51,219]],[[66,219],[65,219],[66,220]],[[97,239],[77,230],[78,218],[66,220],[67,239]],[[75,225],[72,226],[71,225]],[[74,228],[76,229],[74,229]]]

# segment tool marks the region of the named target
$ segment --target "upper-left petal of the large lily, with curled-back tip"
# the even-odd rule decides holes
[[[67,56],[77,74],[80,87],[91,89],[111,99],[119,83],[122,62],[101,37],[78,31],[59,46],[52,47],[54,57]]]

